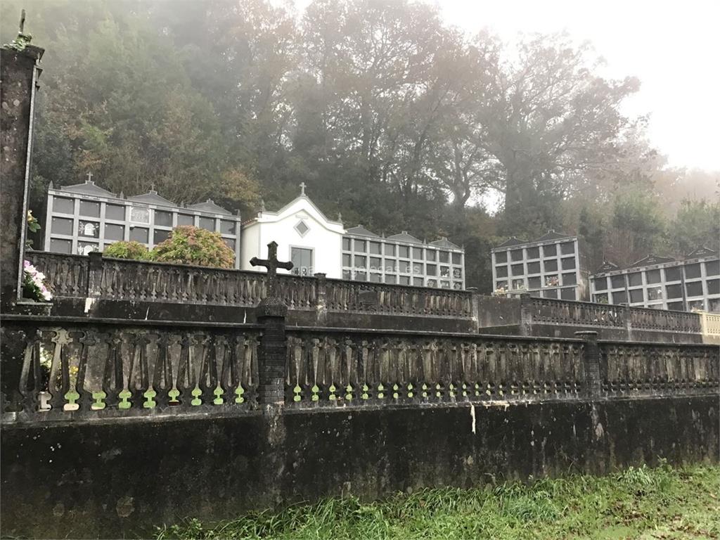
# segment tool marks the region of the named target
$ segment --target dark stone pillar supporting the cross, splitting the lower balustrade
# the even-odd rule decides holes
[[[257,319],[263,326],[258,350],[258,403],[278,405],[285,401],[285,318],[287,306],[276,297],[258,304]]]

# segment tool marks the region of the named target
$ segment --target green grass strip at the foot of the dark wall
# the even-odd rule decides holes
[[[718,539],[720,467],[631,467],[469,490],[330,498],[205,526],[158,528],[157,539]]]

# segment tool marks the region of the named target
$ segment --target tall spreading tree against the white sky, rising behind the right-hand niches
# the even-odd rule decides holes
[[[498,159],[505,193],[505,233],[539,233],[578,176],[616,158],[615,142],[633,122],[621,102],[638,81],[609,81],[595,72],[590,48],[567,37],[521,42],[518,58],[495,70],[483,105],[488,150]]]

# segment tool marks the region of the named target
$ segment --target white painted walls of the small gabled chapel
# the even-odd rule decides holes
[[[305,235],[295,229],[300,220],[310,228]],[[274,240],[279,260],[290,260],[291,247],[310,248],[313,273],[324,272],[329,278],[340,279],[344,233],[342,223],[328,220],[307,197],[298,197],[279,212],[260,212],[255,221],[243,226],[240,268],[258,270],[251,266],[250,259],[266,258],[267,245]],[[289,274],[282,269],[278,272]]]

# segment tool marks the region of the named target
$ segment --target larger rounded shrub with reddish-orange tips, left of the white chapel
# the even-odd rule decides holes
[[[155,246],[153,260],[163,263],[233,268],[235,253],[222,241],[220,233],[182,226],[174,228],[167,240]]]

